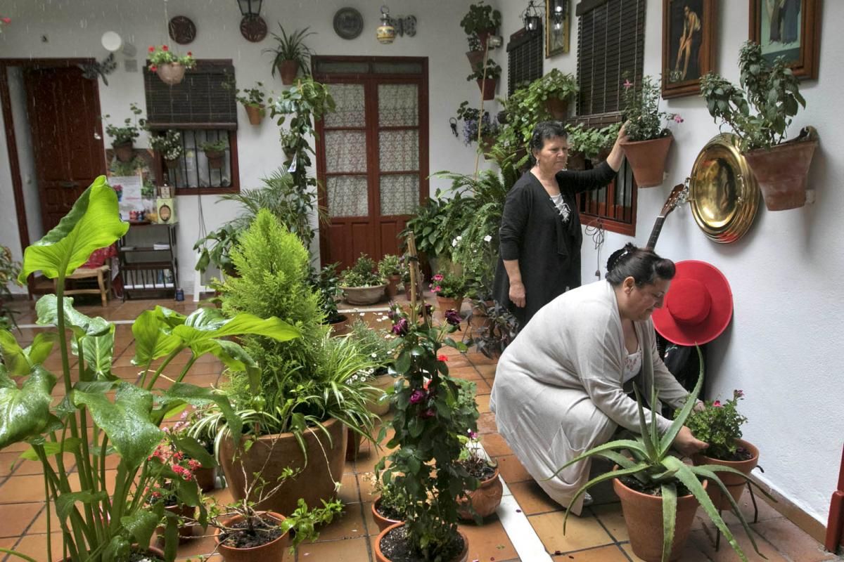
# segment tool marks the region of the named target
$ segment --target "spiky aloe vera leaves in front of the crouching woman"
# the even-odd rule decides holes
[[[637,479],[641,482],[641,484],[658,487],[660,489],[660,493],[663,498],[663,562],[668,561],[669,556],[671,555],[672,544],[674,543],[678,484],[682,484],[692,495],[695,496],[695,499],[701,504],[703,510],[706,511],[706,515],[711,519],[711,522],[715,524],[721,533],[723,533],[724,537],[727,538],[730,546],[732,546],[736,551],[736,554],[738,554],[738,557],[744,560],[744,562],[747,562],[747,556],[738,545],[735,537],[733,537],[733,533],[730,532],[730,529],[722,519],[720,512],[714,504],[712,504],[712,500],[709,498],[709,495],[706,493],[706,489],[701,483],[701,479],[708,479],[709,485],[717,485],[721,488],[723,494],[728,497],[730,504],[733,506],[733,511],[744,527],[744,530],[747,532],[750,543],[753,544],[753,548],[756,553],[760,554],[762,558],[765,558],[756,546],[753,533],[750,533],[750,527],[748,526],[747,521],[745,521],[741,511],[738,510],[738,504],[735,500],[733,500],[733,496],[730,495],[727,487],[722,483],[721,479],[718,478],[717,473],[728,472],[731,474],[738,474],[750,482],[750,484],[756,484],[752,480],[748,479],[746,475],[738,472],[738,470],[735,470],[734,468],[717,466],[714,464],[690,466],[685,464],[680,458],[674,456],[671,451],[674,438],[684,426],[685,420],[689,417],[692,409],[694,408],[697,395],[701,392],[701,387],[703,386],[704,363],[700,347],[697,349],[697,353],[701,360],[701,371],[697,379],[697,384],[695,384],[695,388],[690,393],[689,399],[686,400],[683,408],[680,409],[679,414],[668,428],[668,431],[666,431],[662,436],[658,434],[657,413],[655,408],[651,409],[651,423],[647,424],[645,409],[642,407],[641,403],[641,394],[639,393],[639,389],[636,388],[636,385],[634,385],[634,391],[636,392],[636,404],[639,406],[639,436],[636,436],[635,439],[619,439],[604,443],[598,447],[593,447],[589,451],[584,452],[582,455],[571,459],[568,463],[565,463],[553,475],[556,476],[556,474],[559,474],[563,468],[590,457],[603,457],[619,466],[617,470],[601,474],[589,480],[586,484],[582,485],[580,490],[577,490],[574,498],[572,498],[571,503],[568,506],[568,510],[565,512],[565,519],[563,520],[564,534],[565,524],[568,522],[569,513],[571,513],[571,506],[575,504],[576,500],[582,494],[595,484],[600,484],[601,482],[615,478],[620,479],[624,476],[630,476]],[[657,404],[656,388],[652,389],[651,401],[649,404]],[[632,458],[625,456],[625,452],[630,454]],[[757,486],[757,488],[759,487]],[[771,497],[765,490],[761,491],[763,494]]]

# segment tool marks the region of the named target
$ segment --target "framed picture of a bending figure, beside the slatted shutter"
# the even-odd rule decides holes
[[[717,0],[663,0],[663,98],[697,95],[715,67]]]

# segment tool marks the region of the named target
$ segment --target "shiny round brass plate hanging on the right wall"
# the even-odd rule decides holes
[[[760,190],[732,133],[714,136],[695,158],[689,202],[697,226],[718,244],[744,236],[759,210]]]

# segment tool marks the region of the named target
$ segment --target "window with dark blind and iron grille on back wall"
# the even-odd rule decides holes
[[[147,126],[152,134],[174,129],[181,133],[182,156],[171,167],[160,155],[156,178],[167,176],[176,194],[229,193],[240,189],[237,167],[237,103],[234,88],[226,88],[235,75],[230,60],[197,61],[181,83],[165,84],[149,68],[143,70],[147,102]],[[208,158],[203,142],[224,139],[226,147],[219,163]]]

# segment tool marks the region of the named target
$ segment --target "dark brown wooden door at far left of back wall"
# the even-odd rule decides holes
[[[76,66],[24,70],[41,220],[48,232],[106,173],[97,81]]]

